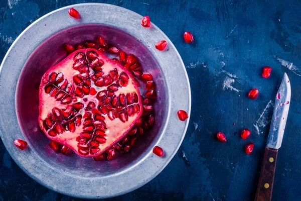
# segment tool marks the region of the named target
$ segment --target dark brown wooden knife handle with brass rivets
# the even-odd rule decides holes
[[[255,201],[267,201],[272,198],[277,154],[278,149],[265,148]]]

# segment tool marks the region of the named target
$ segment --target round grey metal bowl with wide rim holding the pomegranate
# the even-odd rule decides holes
[[[81,20],[70,18],[75,8]],[[178,110],[190,115],[191,93],[183,61],[173,43],[154,24],[140,25],[141,16],[107,4],[78,4],[51,12],[30,25],[6,54],[0,73],[1,138],[16,163],[42,185],[74,197],[105,198],[132,191],[158,175],[179,149],[188,122]],[[156,126],[129,154],[112,161],[93,161],[77,155],[64,156],[50,150],[49,139],[38,126],[38,89],[43,73],[65,53],[63,43],[76,44],[102,35],[136,55],[157,84]],[[154,44],[168,41],[167,51]],[[15,139],[28,142],[21,151]],[[152,153],[155,145],[164,157]]]

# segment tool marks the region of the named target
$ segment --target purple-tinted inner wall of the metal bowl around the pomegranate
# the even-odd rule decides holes
[[[156,82],[158,98],[154,105],[155,126],[138,139],[129,153],[121,154],[111,161],[94,161],[79,157],[75,153],[65,156],[55,153],[49,146],[50,140],[39,129],[39,83],[43,74],[51,66],[66,57],[62,44],[78,44],[95,41],[103,36],[108,44],[113,44],[126,53],[134,54],[140,61],[143,71],[152,73]],[[140,87],[141,88],[141,87]],[[143,94],[143,90],[141,94]],[[44,41],[27,60],[19,77],[16,91],[18,121],[31,151],[52,167],[81,177],[97,177],[115,174],[130,168],[140,160],[146,151],[152,149],[163,133],[169,108],[167,86],[163,73],[155,57],[139,40],[125,31],[101,24],[86,24],[62,30]]]

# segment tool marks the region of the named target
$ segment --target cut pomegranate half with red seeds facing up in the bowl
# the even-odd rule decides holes
[[[69,147],[80,156],[100,155],[122,139],[143,112],[131,73],[92,48],[76,50],[50,68],[39,92],[40,127],[64,145],[65,154]]]

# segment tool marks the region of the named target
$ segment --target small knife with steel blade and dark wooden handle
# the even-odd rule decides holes
[[[266,201],[272,198],[277,153],[281,147],[289,105],[290,82],[287,74],[284,73],[276,94],[274,112],[261,166],[255,201]]]

